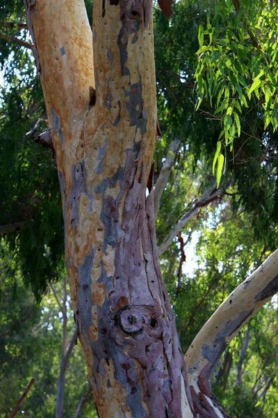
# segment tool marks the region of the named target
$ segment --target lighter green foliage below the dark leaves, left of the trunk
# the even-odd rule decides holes
[[[0,417],[7,417],[13,410],[31,378],[35,378],[35,384],[22,403],[23,412],[17,415],[54,417],[63,334],[60,307],[50,291],[38,307],[31,291],[22,283],[20,269],[3,240],[0,242],[0,284]],[[61,287],[61,284],[55,286],[60,300]],[[75,329],[72,309],[68,310],[67,321],[71,339]],[[66,372],[65,418],[72,418],[88,391],[87,376],[78,345]],[[92,398],[81,416],[96,417]]]

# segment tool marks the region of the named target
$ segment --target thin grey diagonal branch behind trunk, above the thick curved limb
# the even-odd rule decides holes
[[[206,189],[206,191],[202,194],[202,196],[197,200],[196,203],[188,210],[181,219],[179,219],[179,222],[174,226],[170,234],[167,236],[165,241],[161,244],[161,246],[158,248],[158,254],[161,256],[163,252],[169,247],[169,245],[172,243],[172,240],[177,236],[179,231],[186,226],[188,222],[190,222],[193,217],[195,217],[201,208],[204,206],[207,206],[212,201],[215,201],[216,199],[224,196],[226,190],[228,187],[230,187],[233,184],[232,181],[229,181],[225,183],[222,187],[219,189],[215,189],[215,185],[213,187],[210,187],[209,189]]]

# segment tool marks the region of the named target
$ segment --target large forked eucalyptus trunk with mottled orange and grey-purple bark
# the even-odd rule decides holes
[[[79,339],[100,417],[193,417],[154,229],[152,3],[94,8],[96,82],[83,2],[26,3]]]

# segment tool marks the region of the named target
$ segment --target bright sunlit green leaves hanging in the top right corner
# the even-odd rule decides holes
[[[246,109],[256,106],[265,137],[278,127],[277,3],[215,0],[199,25],[199,109],[207,98],[222,125],[219,141],[233,149]],[[277,153],[272,148],[270,153]],[[218,158],[220,183],[222,158]],[[219,174],[220,173],[220,174]]]

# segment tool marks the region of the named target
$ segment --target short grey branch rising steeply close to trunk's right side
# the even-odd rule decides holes
[[[159,176],[156,180],[156,185],[154,188],[154,216],[157,217],[158,210],[161,205],[161,196],[163,194],[163,190],[165,189],[165,186],[167,185],[168,178],[171,173],[171,169],[174,165],[174,160],[177,155],[177,150],[179,148],[179,144],[181,141],[172,141],[169,150],[167,153],[167,157],[165,162],[163,163],[163,167],[161,169],[161,172],[159,173]]]

